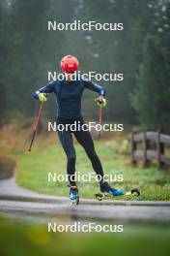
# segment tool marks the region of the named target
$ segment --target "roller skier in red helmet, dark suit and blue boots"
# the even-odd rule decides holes
[[[79,62],[71,55],[65,56],[61,60],[61,68],[65,75],[64,80],[53,80],[48,82],[44,87],[37,90],[34,93],[34,98],[39,99],[42,103],[47,100],[47,96],[50,93],[54,93],[57,98],[58,112],[57,112],[57,125],[62,124],[66,127],[67,124],[74,122],[84,124],[83,116],[81,114],[81,100],[83,91],[89,89],[99,94],[96,102],[99,108],[106,106],[105,89],[90,80],[84,80],[81,77],[74,77],[72,80],[72,74],[76,74],[78,71]],[[81,127],[81,126],[80,126]],[[124,195],[124,191],[114,188],[104,181],[104,173],[99,160],[99,156],[95,150],[94,142],[90,132],[84,129],[78,129],[77,131],[71,131],[64,129],[58,132],[60,143],[67,155],[67,174],[69,178],[70,198],[71,201],[75,201],[78,204],[78,188],[74,178],[71,178],[75,174],[75,149],[73,146],[72,135],[76,138],[77,142],[82,145],[87,156],[89,157],[92,167],[99,177],[99,187],[102,193],[109,193],[113,196]]]

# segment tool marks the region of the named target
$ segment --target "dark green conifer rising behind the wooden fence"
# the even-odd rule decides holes
[[[138,87],[131,103],[140,123],[150,129],[170,128],[170,49],[162,48],[159,38],[149,36],[139,68]]]

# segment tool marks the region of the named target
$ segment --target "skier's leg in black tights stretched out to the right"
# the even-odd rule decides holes
[[[74,133],[74,136],[79,144],[81,144],[89,159],[92,162],[92,166],[96,174],[99,176],[99,179],[103,177],[103,170],[99,160],[99,156],[96,153],[94,142],[92,140],[91,134],[89,131],[77,131]]]

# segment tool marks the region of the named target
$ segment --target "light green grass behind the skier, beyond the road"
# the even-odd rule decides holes
[[[96,149],[103,170],[110,175],[123,175],[123,182],[112,182],[126,191],[138,187],[141,196],[138,200],[170,200],[170,176],[155,166],[148,169],[132,168],[130,157],[119,152],[121,143],[96,141]],[[120,145],[120,146],[119,146]],[[83,148],[75,144],[76,171],[81,174],[93,172],[91,163]],[[43,146],[31,153],[13,153],[18,160],[17,181],[19,185],[35,191],[52,195],[68,195],[67,182],[48,182],[48,172],[66,174],[66,156],[60,144]],[[93,198],[99,192],[97,182],[79,182],[80,196]]]

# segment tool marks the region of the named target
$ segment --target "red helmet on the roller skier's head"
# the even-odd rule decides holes
[[[61,68],[66,73],[73,73],[74,71],[77,71],[78,66],[79,62],[74,56],[67,55],[61,60]]]

